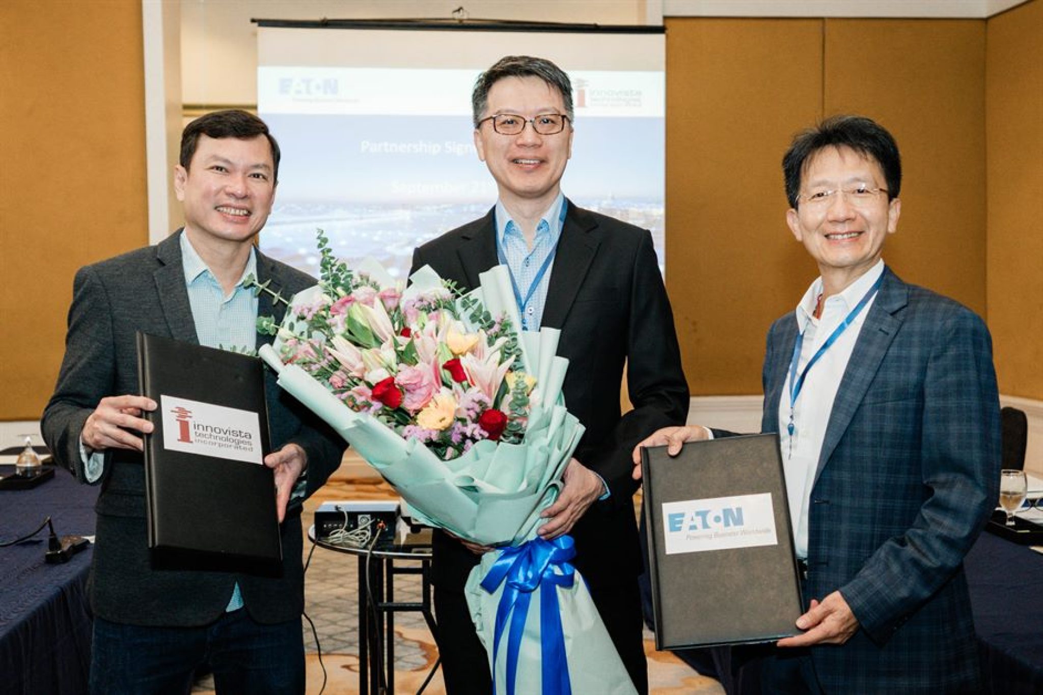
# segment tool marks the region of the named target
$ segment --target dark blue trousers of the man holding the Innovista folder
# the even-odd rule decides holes
[[[94,619],[92,695],[185,695],[203,665],[218,695],[302,695],[300,619],[263,625],[245,609],[202,627]]]

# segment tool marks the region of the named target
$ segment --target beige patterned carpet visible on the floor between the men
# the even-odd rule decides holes
[[[343,469],[342,469],[343,470]],[[312,512],[323,501],[388,499],[392,490],[377,479],[350,479],[335,476],[306,505],[305,528],[312,524]],[[307,562],[311,543],[305,539]],[[315,623],[321,646],[326,684],[319,664],[312,629],[305,622],[305,649],[308,665],[308,694],[320,691],[330,695],[356,695],[359,692],[358,659],[358,565],[353,555],[316,548],[306,574],[306,613]],[[419,576],[404,575],[395,580],[395,599],[420,600]],[[416,693],[438,659],[431,632],[417,612],[395,615],[395,693]],[[646,630],[645,650],[649,660],[652,695],[720,695],[724,692],[713,680],[700,675],[670,652],[655,650],[654,638]],[[204,678],[193,693],[213,693]],[[436,671],[425,695],[444,695],[441,673]],[[576,693],[575,695],[599,695]]]

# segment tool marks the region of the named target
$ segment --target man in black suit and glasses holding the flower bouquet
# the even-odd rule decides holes
[[[558,352],[569,359],[565,403],[586,433],[539,533],[574,536],[574,564],[635,688],[647,693],[637,589],[642,561],[629,452],[657,427],[682,423],[688,404],[652,235],[562,195],[573,99],[568,77],[557,66],[505,57],[479,77],[472,106],[475,145],[500,199],[482,219],[416,249],[413,270],[428,265],[470,289],[479,273],[503,263],[511,271],[523,328],[561,329]],[[621,415],[624,365],[634,408]],[[437,641],[450,695],[492,690],[488,656],[463,593],[482,550],[441,532],[434,541]]]

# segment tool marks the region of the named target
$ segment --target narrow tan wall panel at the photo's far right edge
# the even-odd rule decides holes
[[[1000,392],[1043,399],[1043,0],[987,32],[989,327]]]

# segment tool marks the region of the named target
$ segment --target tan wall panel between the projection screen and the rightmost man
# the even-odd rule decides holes
[[[816,275],[780,162],[821,75],[821,20],[666,21],[666,287],[694,395],[760,393],[768,327]]]

